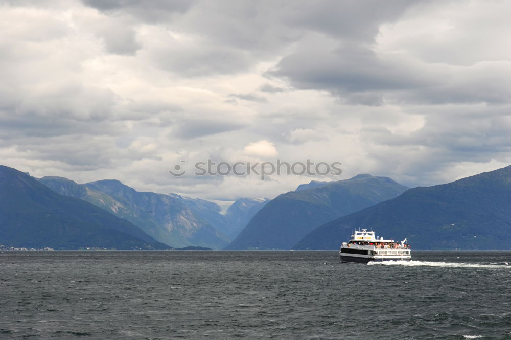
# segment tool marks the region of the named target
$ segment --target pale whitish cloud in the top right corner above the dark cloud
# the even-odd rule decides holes
[[[400,20],[383,25],[376,41],[380,49],[399,51],[427,63],[470,66],[508,58],[505,2],[423,2]]]

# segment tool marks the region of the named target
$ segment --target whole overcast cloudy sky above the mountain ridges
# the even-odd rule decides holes
[[[230,200],[511,163],[511,2],[0,0],[0,164]],[[342,163],[341,174],[197,175]],[[185,171],[173,176],[169,171]]]

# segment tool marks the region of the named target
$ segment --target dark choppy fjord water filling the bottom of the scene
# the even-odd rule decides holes
[[[511,339],[511,252],[4,252],[0,338]]]

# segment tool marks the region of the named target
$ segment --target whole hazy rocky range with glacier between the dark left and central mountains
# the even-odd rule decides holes
[[[172,247],[223,248],[266,203],[240,198],[217,203],[178,194],[138,192],[118,180],[77,184],[64,177],[38,179],[57,193],[86,200],[139,226],[159,242]]]

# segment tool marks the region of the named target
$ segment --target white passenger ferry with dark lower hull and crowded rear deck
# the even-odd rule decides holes
[[[410,246],[406,238],[397,242],[375,237],[374,231],[355,230],[351,240],[343,242],[339,250],[339,258],[345,263],[368,263],[383,261],[410,261]]]

